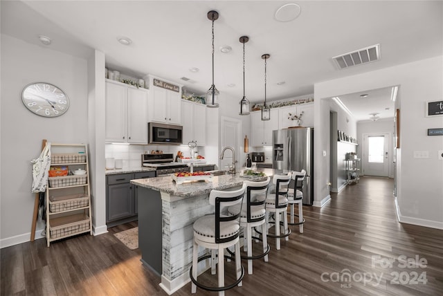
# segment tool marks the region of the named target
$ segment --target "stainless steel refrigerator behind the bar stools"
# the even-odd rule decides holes
[[[273,131],[273,169],[282,171],[306,170],[303,184],[304,205],[314,200],[314,129],[298,127]]]

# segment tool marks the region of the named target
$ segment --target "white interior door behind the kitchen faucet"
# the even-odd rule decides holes
[[[224,147],[233,147],[235,150],[235,161],[236,161],[236,169],[239,169],[238,160],[239,160],[239,135],[241,133],[241,124],[240,120],[235,118],[221,118],[221,147],[220,151],[224,149]],[[229,150],[226,150],[224,153],[224,158],[220,160],[220,169],[228,169],[228,165],[233,163],[233,153]]]

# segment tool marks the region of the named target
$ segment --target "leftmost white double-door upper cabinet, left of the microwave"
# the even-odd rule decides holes
[[[147,93],[146,89],[106,81],[106,142],[147,144]]]

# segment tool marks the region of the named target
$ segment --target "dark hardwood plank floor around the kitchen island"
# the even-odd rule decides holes
[[[305,232],[291,226],[281,250],[269,239],[269,262],[255,260],[253,275],[226,295],[443,295],[443,230],[398,223],[392,179],[363,177],[325,207],[305,206],[303,213]],[[140,252],[113,235],[136,225],[50,248],[38,239],[1,249],[1,295],[167,295]],[[226,281],[231,267],[226,263]],[[210,272],[199,279],[217,283]],[[187,284],[174,295],[190,290]]]

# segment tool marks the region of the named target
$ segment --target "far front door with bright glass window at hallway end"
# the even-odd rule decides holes
[[[363,174],[389,176],[389,134],[363,135]]]

